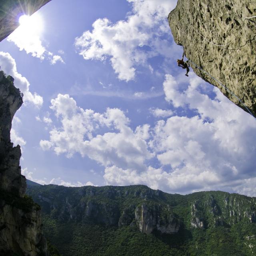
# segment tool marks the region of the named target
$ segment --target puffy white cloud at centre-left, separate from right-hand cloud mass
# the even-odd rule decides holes
[[[108,108],[103,114],[82,109],[68,94],[58,94],[51,101],[51,109],[60,119],[61,127],[50,131],[49,140],[41,140],[43,150],[52,148],[56,154],[72,157],[78,152],[103,166],[145,169],[144,161],[152,157],[143,139],[148,127],[136,129],[129,126],[129,119],[118,108]],[[108,132],[100,135],[100,129]]]

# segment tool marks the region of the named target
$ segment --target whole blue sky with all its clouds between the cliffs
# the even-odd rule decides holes
[[[176,66],[175,5],[52,0],[1,42],[24,93],[11,137],[27,178],[256,196],[256,122]]]

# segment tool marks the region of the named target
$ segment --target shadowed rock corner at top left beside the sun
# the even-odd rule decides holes
[[[22,14],[32,15],[51,0],[0,1],[0,42],[18,26]]]

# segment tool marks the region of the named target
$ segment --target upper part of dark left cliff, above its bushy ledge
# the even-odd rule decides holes
[[[20,146],[10,141],[12,118],[22,105],[20,90],[13,86],[12,77],[0,71],[0,184],[1,189],[24,196],[26,180],[20,172]]]

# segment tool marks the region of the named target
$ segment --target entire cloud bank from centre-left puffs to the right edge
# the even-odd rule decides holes
[[[68,157],[76,152],[88,156],[105,167],[104,179],[110,185],[146,184],[183,194],[216,189],[256,195],[251,186],[256,178],[254,119],[216,88],[215,98],[209,98],[206,83],[196,76],[191,75],[188,84],[166,75],[163,86],[166,100],[190,110],[190,116],[166,110],[172,115],[166,119],[164,110],[152,109],[165,119],[133,131],[120,109],[84,110],[70,96],[59,94],[51,109],[61,126],[53,128],[40,146]],[[244,189],[245,184],[251,187]]]

